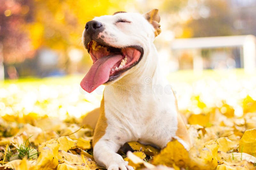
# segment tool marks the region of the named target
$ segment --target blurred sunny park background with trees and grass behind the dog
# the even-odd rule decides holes
[[[92,61],[86,22],[158,8],[155,44],[184,113],[256,111],[256,0],[0,0],[0,115],[81,117],[103,87],[79,83]]]

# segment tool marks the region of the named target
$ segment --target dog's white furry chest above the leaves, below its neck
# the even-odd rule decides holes
[[[140,141],[164,147],[175,135],[177,112],[171,97],[126,96],[116,101],[120,104],[115,100],[105,97],[105,114],[108,126],[113,127],[112,133],[125,142]]]

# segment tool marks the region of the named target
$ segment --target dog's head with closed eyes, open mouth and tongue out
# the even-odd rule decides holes
[[[85,25],[83,44],[93,65],[81,81],[91,93],[104,83],[121,79],[147,60],[149,46],[161,32],[160,16],[154,9],[146,14],[116,12],[96,17]]]

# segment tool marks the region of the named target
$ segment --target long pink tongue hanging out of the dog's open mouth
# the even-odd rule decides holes
[[[84,76],[80,86],[87,92],[91,93],[101,84],[109,79],[111,68],[122,60],[122,55],[108,55],[98,59]]]

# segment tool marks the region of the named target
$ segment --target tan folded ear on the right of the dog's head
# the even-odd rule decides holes
[[[148,20],[150,24],[153,25],[155,28],[155,37],[161,33],[161,28],[160,28],[160,15],[158,13],[158,9],[153,9],[149,11],[146,14],[143,14],[143,16]]]

